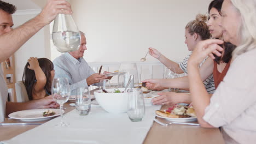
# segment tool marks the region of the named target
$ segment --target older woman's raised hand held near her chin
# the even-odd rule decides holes
[[[222,51],[224,50],[219,44],[223,44],[223,40],[218,39],[208,39],[200,41],[195,49],[193,50],[192,55],[189,57],[189,65],[195,65],[196,67],[206,58],[206,56],[214,59],[213,56],[222,56]]]

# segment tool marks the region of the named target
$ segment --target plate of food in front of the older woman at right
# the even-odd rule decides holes
[[[168,107],[166,110],[155,111],[156,117],[165,118],[172,122],[191,122],[196,121],[195,110],[193,106],[176,104]]]

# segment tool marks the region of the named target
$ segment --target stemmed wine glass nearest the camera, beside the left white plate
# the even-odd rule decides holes
[[[51,84],[51,95],[53,95],[53,99],[60,105],[61,122],[57,125],[60,127],[67,127],[69,124],[63,120],[63,104],[68,101],[70,95],[68,79],[53,79],[53,83]]]

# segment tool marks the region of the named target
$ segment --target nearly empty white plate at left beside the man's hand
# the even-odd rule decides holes
[[[54,111],[55,115],[44,117],[43,112],[47,110]],[[62,110],[62,112],[64,113],[65,111]],[[61,115],[60,109],[33,109],[33,110],[16,111],[16,112],[10,113],[9,117],[13,119],[19,119],[21,121],[34,122],[34,121],[44,121],[46,119],[50,119],[60,115]]]

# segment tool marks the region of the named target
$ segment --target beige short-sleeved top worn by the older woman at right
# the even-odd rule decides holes
[[[222,127],[226,143],[256,142],[256,49],[231,63],[205,110],[206,122]]]

